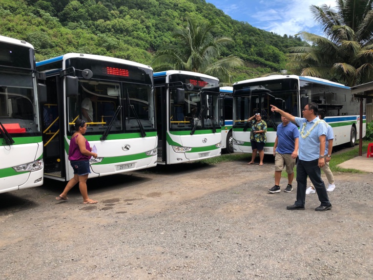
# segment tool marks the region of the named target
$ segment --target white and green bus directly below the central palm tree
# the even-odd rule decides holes
[[[221,155],[219,80],[188,71],[154,73],[158,164]]]

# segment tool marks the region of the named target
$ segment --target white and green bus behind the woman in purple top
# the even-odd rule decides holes
[[[85,138],[98,158],[89,177],[129,172],[157,164],[153,69],[122,59],[68,53],[36,64],[45,73],[41,101],[44,176],[67,181],[72,125],[83,119]],[[85,104],[82,107],[82,102]],[[89,105],[88,108],[86,107]]]

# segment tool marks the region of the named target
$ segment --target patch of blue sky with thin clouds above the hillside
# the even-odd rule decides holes
[[[335,7],[335,0],[206,0],[232,19],[279,35],[307,31],[322,35],[310,5]]]

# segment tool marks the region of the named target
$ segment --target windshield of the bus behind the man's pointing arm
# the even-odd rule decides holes
[[[268,128],[275,129],[281,123],[281,115],[272,112],[270,105],[289,110],[299,116],[296,79],[278,79],[243,83],[234,86],[235,106],[233,126],[245,127],[249,117],[260,113]]]

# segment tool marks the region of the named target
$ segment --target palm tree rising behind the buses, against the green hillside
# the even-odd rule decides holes
[[[221,58],[222,47],[233,40],[228,37],[213,37],[214,25],[198,25],[187,19],[187,26],[173,33],[177,45],[168,44],[155,54],[152,66],[155,70],[186,70],[217,77],[221,85],[231,83],[229,70],[243,65],[235,56]]]

